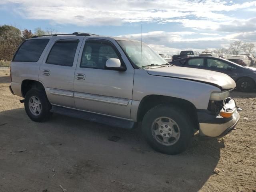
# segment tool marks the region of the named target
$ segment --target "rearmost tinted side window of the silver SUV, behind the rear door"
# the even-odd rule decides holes
[[[37,62],[49,39],[32,39],[22,43],[12,61]]]

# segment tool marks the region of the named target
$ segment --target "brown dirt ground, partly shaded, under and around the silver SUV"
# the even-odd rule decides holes
[[[169,156],[152,150],[139,129],[57,114],[33,122],[9,83],[9,68],[0,68],[0,192],[256,191],[256,92],[232,92],[243,109],[236,130],[208,142],[196,136],[186,152]]]

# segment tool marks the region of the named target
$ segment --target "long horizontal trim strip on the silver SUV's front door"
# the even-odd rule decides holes
[[[128,106],[129,104],[129,99],[126,100],[126,99],[121,99],[116,97],[100,96],[100,95],[78,93],[78,92],[74,93],[74,98],[98,101],[98,102],[121,105],[121,106]]]

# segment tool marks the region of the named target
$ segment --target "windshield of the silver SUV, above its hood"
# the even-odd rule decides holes
[[[166,64],[166,60],[144,43],[141,44],[141,42],[128,40],[118,40],[117,42],[122,47],[130,61],[139,68],[150,65]]]

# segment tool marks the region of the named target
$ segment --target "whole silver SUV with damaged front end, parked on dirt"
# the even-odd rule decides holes
[[[28,116],[52,112],[122,128],[142,122],[155,150],[177,154],[194,133],[219,138],[240,116],[226,74],[172,66],[146,44],[86,33],[34,36],[11,63],[10,91]]]

